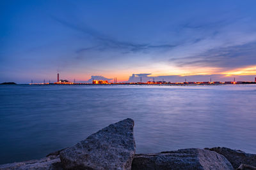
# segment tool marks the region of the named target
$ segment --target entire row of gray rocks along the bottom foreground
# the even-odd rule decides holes
[[[230,148],[188,148],[135,154],[134,121],[127,118],[75,146],[39,160],[0,165],[0,169],[253,169],[256,154]]]

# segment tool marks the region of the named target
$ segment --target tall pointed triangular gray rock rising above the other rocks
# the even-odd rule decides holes
[[[60,152],[66,169],[131,169],[134,121],[127,118]]]

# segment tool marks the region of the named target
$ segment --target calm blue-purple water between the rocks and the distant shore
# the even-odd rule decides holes
[[[256,86],[0,86],[0,164],[38,159],[124,118],[136,152],[256,153]]]

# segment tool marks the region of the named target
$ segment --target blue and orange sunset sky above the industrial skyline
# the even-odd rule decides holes
[[[57,73],[71,81],[127,81],[140,73],[253,81],[255,6],[254,0],[2,0],[0,81],[54,82]]]

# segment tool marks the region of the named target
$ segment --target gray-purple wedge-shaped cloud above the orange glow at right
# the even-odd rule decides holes
[[[225,69],[256,65],[256,41],[243,45],[213,48],[206,52],[169,60],[183,66],[221,67]]]

